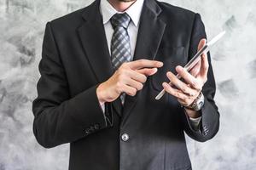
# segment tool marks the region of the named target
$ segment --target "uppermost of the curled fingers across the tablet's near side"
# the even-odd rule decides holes
[[[195,88],[197,91],[201,91],[201,83],[191,74],[189,74],[188,71],[183,69],[182,66],[177,66],[176,71],[181,77],[183,77],[185,82],[189,83],[191,87]]]

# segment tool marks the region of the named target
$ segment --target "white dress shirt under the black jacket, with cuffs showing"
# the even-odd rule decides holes
[[[107,37],[107,42],[108,42],[108,51],[109,54],[111,54],[111,39],[113,36],[113,27],[110,23],[110,19],[113,17],[114,14],[122,14],[126,13],[130,16],[131,22],[127,28],[128,35],[130,37],[130,43],[131,43],[131,59],[133,59],[133,55],[135,52],[135,47],[137,43],[137,32],[139,28],[139,23],[140,23],[140,17],[141,13],[143,10],[143,3],[144,0],[137,0],[134,2],[130,8],[127,8],[124,12],[119,12],[113,6],[108,2],[108,0],[101,0],[100,3],[100,11],[102,14],[102,19],[103,19],[103,25],[105,29],[105,34]],[[105,105],[102,104],[102,111],[105,112]],[[191,125],[195,128],[198,128],[198,125],[200,124],[201,117],[198,118],[189,118]]]

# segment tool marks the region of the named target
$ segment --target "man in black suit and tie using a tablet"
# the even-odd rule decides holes
[[[191,169],[184,132],[204,142],[219,127],[210,54],[183,69],[206,38],[200,14],[155,0],[96,0],[48,22],[38,143],[70,143],[70,170]]]

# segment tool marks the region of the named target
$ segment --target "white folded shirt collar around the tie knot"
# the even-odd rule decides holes
[[[126,13],[131,17],[133,24],[138,26],[143,10],[143,3],[144,0],[137,0],[131,5],[130,8],[127,8],[124,12],[118,12],[110,3],[108,3],[108,0],[101,0],[100,10],[102,13],[103,24],[108,23],[111,17],[116,13]]]

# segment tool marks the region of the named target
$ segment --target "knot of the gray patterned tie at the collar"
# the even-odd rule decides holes
[[[127,27],[129,26],[130,23],[130,16],[126,13],[124,14],[114,14],[113,17],[110,19],[110,22],[113,26],[113,28],[117,27],[117,26],[121,26],[124,27],[125,29],[127,29]]]

